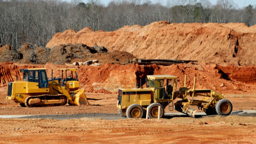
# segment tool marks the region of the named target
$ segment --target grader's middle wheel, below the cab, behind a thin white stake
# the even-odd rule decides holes
[[[148,106],[148,118],[158,118],[158,106],[160,106],[160,118],[164,116],[164,107],[160,103],[151,103]]]

